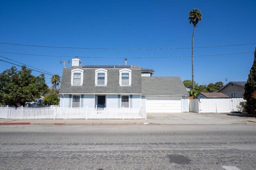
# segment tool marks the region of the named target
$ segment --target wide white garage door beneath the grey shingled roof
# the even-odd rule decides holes
[[[146,96],[147,113],[180,113],[181,96]]]

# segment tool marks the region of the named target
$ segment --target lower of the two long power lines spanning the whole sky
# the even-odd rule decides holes
[[[26,53],[12,53],[12,52],[4,52],[0,51],[0,53],[9,53],[9,54],[18,54],[18,55],[33,55],[33,56],[45,56],[45,57],[74,57],[74,56],[60,56],[60,55],[38,55],[38,54],[26,54]],[[254,52],[242,52],[242,53],[227,53],[227,54],[214,54],[214,55],[195,55],[194,57],[210,57],[210,56],[222,56],[222,55],[237,55],[237,54],[248,54]],[[191,55],[187,56],[166,56],[166,57],[83,57],[78,56],[79,58],[106,58],[106,59],[157,59],[157,58],[178,58],[178,57],[191,57]]]

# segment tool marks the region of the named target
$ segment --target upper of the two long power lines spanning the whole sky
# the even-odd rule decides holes
[[[167,49],[191,49],[191,47],[173,47],[173,48],[91,48],[91,47],[60,47],[60,46],[44,46],[44,45],[28,45],[28,44],[15,44],[15,43],[0,43],[6,45],[20,45],[20,46],[30,46],[30,47],[45,47],[45,48],[61,48],[61,49],[96,49],[96,50],[167,50]],[[252,45],[256,43],[247,44],[233,44],[233,45],[215,45],[215,46],[204,46],[204,47],[194,47],[194,48],[215,48],[215,47],[230,47],[239,45]]]

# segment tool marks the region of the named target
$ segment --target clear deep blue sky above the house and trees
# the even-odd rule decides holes
[[[193,26],[188,12],[202,11],[194,47],[256,43],[256,1],[242,0],[84,0],[1,1],[0,43],[91,48],[191,47]],[[194,49],[194,76],[199,84],[246,81],[256,44]],[[0,56],[62,75],[61,61],[74,57],[126,57],[128,64],[155,70],[154,76],[192,77],[191,49],[96,50],[43,48],[0,44]],[[222,55],[196,57],[197,55]],[[142,57],[129,59],[129,57]],[[170,57],[170,58],[145,58]],[[0,57],[1,60],[10,61]],[[124,59],[80,58],[83,65],[119,65]],[[19,64],[19,63],[16,63]],[[12,64],[0,61],[0,72]],[[70,64],[67,64],[70,66]],[[17,66],[18,67],[18,66]],[[20,69],[20,67],[18,67]],[[32,74],[40,73],[33,71]],[[50,86],[50,75],[46,83]]]

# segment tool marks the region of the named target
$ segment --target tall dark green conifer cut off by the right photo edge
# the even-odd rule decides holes
[[[254,62],[250,69],[250,74],[248,75],[244,90],[246,110],[248,113],[256,115],[256,48],[254,51]]]

